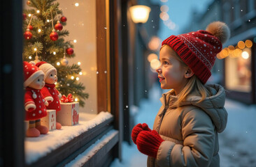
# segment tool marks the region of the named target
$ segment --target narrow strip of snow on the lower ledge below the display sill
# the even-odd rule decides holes
[[[65,167],[69,166],[83,166],[86,161],[88,161],[94,154],[96,154],[101,148],[103,148],[108,141],[111,141],[111,139],[118,134],[118,131],[115,129],[112,129],[110,132],[102,136],[98,141],[96,141],[94,144],[92,144],[85,152],[81,153],[73,159],[73,161],[70,161],[69,164],[66,164]]]

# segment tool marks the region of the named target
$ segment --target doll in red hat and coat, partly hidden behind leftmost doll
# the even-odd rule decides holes
[[[36,66],[43,70],[45,73],[45,86],[42,88],[41,92],[45,100],[49,102],[47,109],[54,109],[57,112],[60,111],[60,102],[59,99],[62,97],[62,94],[55,88],[55,82],[57,82],[57,70],[50,63],[41,61],[36,63]],[[59,122],[56,122],[56,129],[61,129],[62,125]]]

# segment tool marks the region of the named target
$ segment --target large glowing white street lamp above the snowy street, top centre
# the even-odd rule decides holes
[[[131,6],[129,8],[131,19],[134,23],[145,23],[148,21],[148,16],[151,8],[148,6]]]

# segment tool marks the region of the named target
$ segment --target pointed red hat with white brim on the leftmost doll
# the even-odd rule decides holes
[[[29,86],[36,77],[40,75],[45,75],[42,70],[36,67],[34,64],[23,61],[23,72],[24,72],[24,87]]]

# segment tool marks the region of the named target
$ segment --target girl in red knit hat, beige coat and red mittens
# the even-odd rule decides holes
[[[153,130],[143,123],[131,132],[138,150],[148,155],[148,166],[220,166],[225,90],[204,84],[228,38],[227,25],[213,22],[206,31],[171,35],[162,42],[157,73],[161,88],[172,90],[160,99]]]

